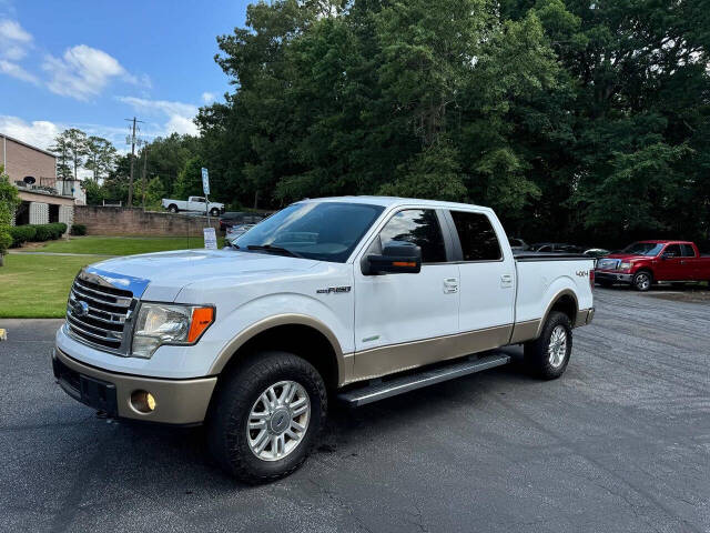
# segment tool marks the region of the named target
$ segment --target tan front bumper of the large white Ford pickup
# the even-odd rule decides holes
[[[216,378],[161,380],[118,374],[80,363],[55,349],[54,355],[74,372],[112,383],[115,386],[119,416],[166,424],[196,424],[204,421]],[[146,391],[155,398],[155,410],[136,411],[131,405],[134,391]]]

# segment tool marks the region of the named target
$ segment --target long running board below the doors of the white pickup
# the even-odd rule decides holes
[[[403,375],[400,378],[388,379],[387,381],[371,380],[369,384],[357,389],[342,392],[338,400],[351,408],[358,408],[367,403],[396,396],[405,392],[415,391],[425,386],[454,380],[463,375],[474,374],[484,370],[500,366],[510,362],[510,355],[493,353],[487,355],[470,355],[464,361],[437,366],[436,369],[423,370],[415,374]]]

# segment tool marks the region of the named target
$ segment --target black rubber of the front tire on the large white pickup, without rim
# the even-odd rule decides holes
[[[305,434],[285,457],[266,461],[252,451],[246,425],[250,412],[264,391],[275,383],[294,381],[308,395],[311,413]],[[207,420],[212,455],[229,474],[246,483],[264,483],[296,470],[316,443],[327,414],[327,393],[315,368],[286,352],[261,352],[250,358],[219,384]]]

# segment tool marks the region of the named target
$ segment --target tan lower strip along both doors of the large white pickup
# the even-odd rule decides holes
[[[355,353],[353,379],[369,380],[508,344],[513,324],[373,348]]]

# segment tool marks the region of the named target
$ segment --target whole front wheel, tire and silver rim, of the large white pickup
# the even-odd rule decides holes
[[[296,470],[327,412],[318,371],[291,353],[263,352],[225,380],[207,422],[210,449],[222,469],[247,483]]]

